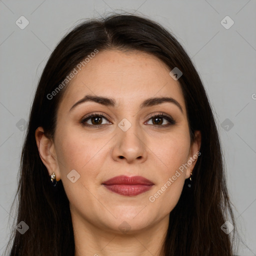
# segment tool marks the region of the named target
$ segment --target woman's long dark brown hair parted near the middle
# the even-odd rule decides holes
[[[74,255],[74,236],[61,180],[54,188],[35,142],[35,130],[42,126],[54,136],[56,110],[65,85],[47,98],[69,72],[94,49],[140,50],[182,71],[178,79],[185,99],[191,140],[201,131],[201,155],[193,169],[192,184],[187,180],[181,196],[170,212],[162,247],[164,255],[233,255],[235,223],[226,188],[220,140],[202,81],[186,51],[160,24],[138,15],[112,14],[76,25],[51,53],[33,99],[21,153],[17,190],[16,224],[24,221],[29,229],[20,234],[13,228],[9,255]],[[228,220],[234,229],[226,234]]]

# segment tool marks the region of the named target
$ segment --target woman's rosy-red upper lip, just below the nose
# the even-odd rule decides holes
[[[141,185],[153,185],[154,183],[151,182],[149,179],[144,178],[142,176],[125,176],[125,175],[120,175],[120,176],[115,176],[112,177],[108,180],[105,180],[102,182],[102,184],[105,185],[114,185],[114,184],[141,184]]]

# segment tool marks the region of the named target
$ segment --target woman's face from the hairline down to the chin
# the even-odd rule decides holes
[[[49,174],[62,180],[73,220],[120,232],[168,219],[200,146],[190,144],[182,91],[169,71],[152,55],[107,50],[71,80],[51,154],[40,150]],[[172,99],[148,100],[162,97]],[[181,171],[182,164],[189,166]],[[126,178],[106,182],[120,175]]]

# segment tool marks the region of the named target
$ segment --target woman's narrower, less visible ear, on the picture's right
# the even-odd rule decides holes
[[[187,165],[186,168],[186,178],[190,177],[190,173],[193,171],[194,165],[197,161],[197,158],[201,154],[199,152],[201,146],[201,132],[199,130],[196,130],[194,132],[194,141],[190,145],[189,155],[187,158]]]

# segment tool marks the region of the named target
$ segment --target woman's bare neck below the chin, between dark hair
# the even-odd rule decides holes
[[[97,227],[72,217],[75,256],[163,256],[161,248],[166,236],[169,215],[143,230],[126,233]]]

